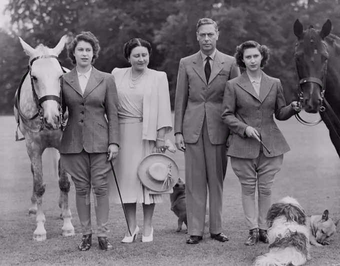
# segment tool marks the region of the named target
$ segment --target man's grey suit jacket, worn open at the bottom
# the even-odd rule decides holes
[[[220,117],[227,80],[240,74],[235,58],[216,51],[209,82],[206,84],[200,52],[179,62],[174,104],[174,133],[186,143],[196,143],[206,116],[211,144],[225,144],[228,127]]]

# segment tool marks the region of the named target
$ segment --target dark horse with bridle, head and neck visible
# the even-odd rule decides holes
[[[340,38],[327,20],[321,30],[303,30],[296,20],[295,64],[299,80],[295,95],[307,113],[319,113],[340,157]]]

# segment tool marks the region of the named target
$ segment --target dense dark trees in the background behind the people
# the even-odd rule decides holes
[[[254,40],[270,49],[263,71],[284,87],[296,86],[295,36],[299,19],[304,27],[320,28],[326,19],[340,36],[339,0],[9,0],[11,29],[0,29],[0,114],[12,114],[13,98],[27,69],[28,58],[18,41],[54,47],[61,36],[92,32],[101,51],[94,67],[110,73],[127,67],[123,45],[132,38],[151,43],[149,68],[165,71],[173,108],[179,60],[198,51],[196,23],[213,19],[219,28],[217,49],[233,55],[235,48]],[[66,49],[62,66],[71,69]]]

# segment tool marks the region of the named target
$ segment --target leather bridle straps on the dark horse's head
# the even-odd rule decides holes
[[[303,43],[303,40],[300,40],[300,41],[296,42],[295,47],[298,44],[301,44],[301,43]],[[321,43],[326,46],[326,42],[325,41],[321,40]],[[306,77],[306,78],[300,79],[300,75],[298,73],[297,62],[296,62],[296,58],[295,58],[295,71],[296,71],[297,79],[298,79],[298,93],[297,93],[297,96],[298,96],[298,103],[299,104],[301,104],[301,101],[303,100],[303,92],[302,92],[302,89],[301,89],[301,85],[306,83],[306,82],[312,82],[312,83],[318,84],[320,86],[320,88],[321,88],[321,92],[320,92],[320,94],[321,94],[320,112],[324,112],[325,111],[325,107],[323,106],[323,103],[325,103],[327,106],[329,105],[326,102],[326,99],[324,98],[326,75],[327,75],[327,65],[328,65],[328,58],[325,60],[325,67],[324,67],[324,73],[323,73],[323,81],[321,81],[320,79],[315,78],[315,77]],[[306,126],[315,126],[315,125],[319,124],[322,121],[322,119],[320,118],[319,120],[314,121],[314,122],[307,122],[304,119],[302,119],[298,113],[295,114],[295,118],[297,119],[298,122],[300,122],[301,124],[306,125]]]

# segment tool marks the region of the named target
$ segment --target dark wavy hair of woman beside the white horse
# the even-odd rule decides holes
[[[75,57],[73,55],[75,47],[80,41],[84,41],[86,43],[89,43],[92,46],[92,51],[93,51],[93,57],[91,64],[94,63],[95,59],[98,58],[99,51],[100,51],[100,46],[99,46],[99,41],[91,32],[81,32],[75,38],[67,45],[67,55],[69,60],[72,62],[73,65],[76,64],[75,62]]]

